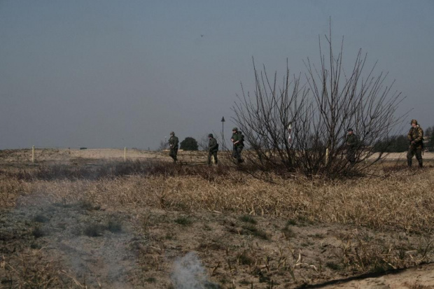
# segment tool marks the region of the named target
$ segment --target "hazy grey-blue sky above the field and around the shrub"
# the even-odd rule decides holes
[[[318,35],[362,48],[434,125],[434,1],[0,0],[0,149],[158,147],[229,136],[253,64],[318,63]],[[409,125],[408,125],[409,127]]]

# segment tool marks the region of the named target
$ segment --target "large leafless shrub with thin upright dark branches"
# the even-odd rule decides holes
[[[331,31],[325,36],[327,53],[319,40],[320,66],[305,63],[307,72],[290,76],[286,68],[281,85],[277,74],[269,78],[256,69],[253,95],[244,91],[233,106],[235,122],[244,133],[244,155],[262,170],[296,171],[307,176],[360,174],[385,156],[374,155],[374,144],[395,133],[403,116],[396,117],[400,92],[386,85],[387,73],[374,75],[375,65],[364,72],[367,55],[358,51],[352,68],[344,69],[343,40],[335,55]],[[346,130],[358,137],[356,166],[346,159]],[[369,161],[368,161],[369,160]]]

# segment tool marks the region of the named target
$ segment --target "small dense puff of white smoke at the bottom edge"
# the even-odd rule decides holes
[[[175,289],[218,288],[208,281],[207,273],[195,252],[189,252],[175,261],[171,279]]]

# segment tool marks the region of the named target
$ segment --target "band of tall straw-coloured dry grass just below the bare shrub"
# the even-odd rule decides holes
[[[170,174],[132,174],[96,180],[20,181],[2,177],[0,206],[13,206],[18,195],[36,194],[52,202],[84,200],[100,206],[232,211],[430,232],[434,224],[432,188],[432,169],[417,174],[412,171],[389,174],[387,178],[340,181],[273,176],[270,183],[236,170],[187,167],[173,169]],[[20,198],[20,202],[32,200]]]

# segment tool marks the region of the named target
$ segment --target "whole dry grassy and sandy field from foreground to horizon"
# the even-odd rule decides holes
[[[0,151],[0,288],[434,286],[433,154],[334,181],[124,157]]]

